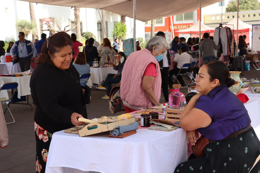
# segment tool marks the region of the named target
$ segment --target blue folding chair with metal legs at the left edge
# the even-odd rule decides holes
[[[18,87],[18,83],[17,82],[10,82],[10,83],[5,83],[1,86],[0,88],[0,92],[1,90],[7,90],[7,89],[13,89],[13,93],[12,93],[12,96],[10,99],[6,99],[6,100],[3,100],[3,101],[0,101],[0,103],[5,103],[5,111],[4,111],[4,114],[6,112],[6,110],[8,110],[8,112],[10,113],[12,119],[13,119],[13,122],[10,122],[10,123],[6,123],[6,124],[12,124],[12,123],[15,123],[15,120],[14,120],[14,116],[12,115],[12,112],[10,111],[9,109],[9,105],[11,104],[11,101],[12,101],[12,98],[14,97],[14,93],[15,91],[17,90],[17,87]],[[8,102],[8,104],[6,103]]]

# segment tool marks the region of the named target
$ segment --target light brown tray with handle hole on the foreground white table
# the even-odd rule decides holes
[[[96,133],[101,133],[104,131],[114,130],[117,126],[129,125],[133,122],[135,122],[135,118],[117,121],[117,122],[108,123],[108,124],[90,123],[88,125],[83,125],[81,127],[76,126],[76,127],[66,129],[66,130],[64,130],[64,132],[79,134],[79,136],[82,137],[82,136],[93,135]]]

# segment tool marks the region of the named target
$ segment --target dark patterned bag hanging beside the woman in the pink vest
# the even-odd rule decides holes
[[[109,95],[109,110],[114,114],[125,111],[125,106],[120,97],[120,86],[114,86]]]

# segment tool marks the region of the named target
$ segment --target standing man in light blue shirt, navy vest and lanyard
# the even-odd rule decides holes
[[[15,42],[14,46],[10,50],[13,63],[19,62],[22,72],[30,69],[31,61],[35,61],[37,53],[34,45],[29,40],[25,40],[24,37],[25,34],[19,32],[19,40]]]

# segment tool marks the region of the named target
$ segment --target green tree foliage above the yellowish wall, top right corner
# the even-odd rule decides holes
[[[239,0],[239,11],[260,10],[258,0]],[[237,0],[229,2],[226,12],[237,12]]]

